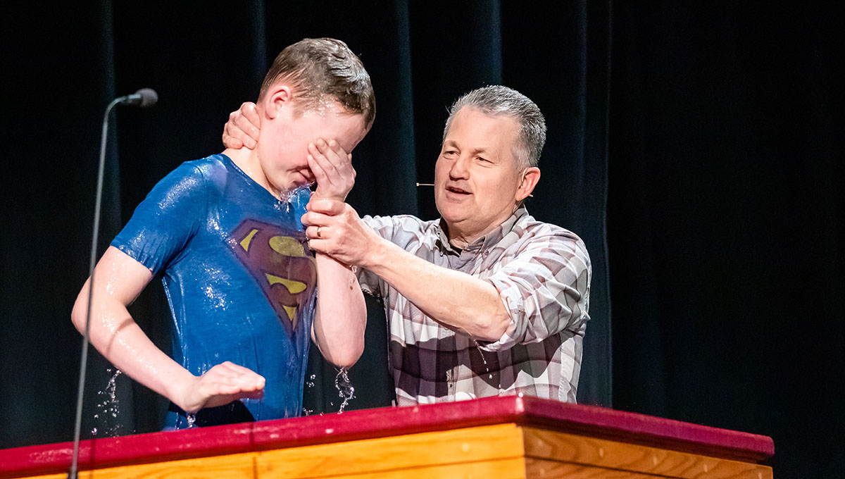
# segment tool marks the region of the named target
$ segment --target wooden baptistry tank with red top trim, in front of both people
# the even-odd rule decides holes
[[[73,443],[0,450],[0,477],[67,476]],[[79,477],[766,479],[771,438],[532,397],[83,441]]]

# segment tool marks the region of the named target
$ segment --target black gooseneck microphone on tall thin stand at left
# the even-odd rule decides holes
[[[132,95],[119,96],[112,100],[106,106],[106,112],[103,114],[103,128],[100,139],[100,165],[97,168],[97,189],[96,199],[94,201],[94,231],[91,234],[91,255],[88,269],[88,277],[90,278],[88,289],[88,311],[85,316],[85,332],[82,335],[82,358],[79,365],[79,394],[76,397],[76,424],[74,427],[74,455],[70,463],[70,471],[68,471],[68,479],[78,479],[79,472],[79,436],[82,429],[82,399],[85,392],[85,368],[88,363],[88,343],[90,323],[91,323],[91,300],[94,296],[94,267],[96,265],[97,254],[97,237],[100,232],[100,210],[102,204],[102,190],[103,190],[103,171],[106,166],[106,138],[108,135],[108,117],[112,112],[112,108],[116,105],[135,105],[141,108],[155,105],[158,101],[158,94],[155,90],[150,88],[142,88]]]

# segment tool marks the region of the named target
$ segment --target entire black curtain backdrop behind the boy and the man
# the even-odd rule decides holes
[[[361,214],[435,218],[414,183],[433,179],[446,108],[485,84],[520,90],[549,128],[528,209],[593,262],[579,400],[770,435],[777,477],[841,476],[842,7],[101,1],[3,17],[0,448],[72,438],[69,313],[106,104],[161,97],[112,116],[100,253],[155,182],[222,150],[275,54],[333,36],[378,101],[354,154]],[[368,301],[351,409],[391,400]],[[131,312],[168,350],[159,278]],[[313,352],[305,409],[337,411],[336,371]],[[156,430],[165,400],[95,352],[89,367],[85,437]]]

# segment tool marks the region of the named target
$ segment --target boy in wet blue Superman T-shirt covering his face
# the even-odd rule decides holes
[[[74,305],[84,331],[93,289],[92,344],[172,401],[166,428],[298,416],[310,340],[341,367],[363,351],[355,276],[313,257],[300,217],[314,181],[314,196],[330,201],[352,188],[347,152],[375,115],[369,75],[342,41],[306,39],[276,57],[257,103],[256,149],[187,161],[161,180]],[[173,359],[127,311],[159,271]],[[317,301],[317,290],[331,294]]]

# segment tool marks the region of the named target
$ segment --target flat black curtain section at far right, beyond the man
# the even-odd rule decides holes
[[[842,477],[842,3],[613,4],[613,406]]]

